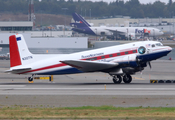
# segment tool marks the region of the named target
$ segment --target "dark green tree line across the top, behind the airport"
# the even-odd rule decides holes
[[[0,13],[28,14],[29,0],[0,0]],[[71,15],[77,12],[85,17],[116,17],[119,15],[131,18],[169,18],[175,16],[175,2],[168,4],[156,1],[141,4],[139,0],[124,2],[116,0],[109,4],[103,1],[88,0],[34,0],[34,11],[40,14]]]

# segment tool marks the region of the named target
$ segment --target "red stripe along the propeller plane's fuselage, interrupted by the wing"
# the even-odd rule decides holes
[[[133,51],[136,51],[136,52],[133,52]],[[126,52],[128,52],[128,54],[126,54]],[[134,53],[137,53],[138,51],[137,51],[137,49],[135,49],[135,50],[130,50],[130,51],[126,51],[126,52],[118,52],[118,53],[120,53],[120,55],[117,55],[118,53],[102,55],[102,56],[105,56],[105,58],[102,58],[102,56],[97,56],[97,57],[85,58],[85,59],[81,59],[81,60],[87,60],[87,59],[93,59],[92,61],[102,60],[102,59],[113,58],[113,57],[117,57],[117,56],[134,54]],[[110,57],[110,55],[112,55],[112,57]],[[94,58],[96,58],[96,59],[94,59]],[[29,72],[36,72],[36,71],[40,71],[40,70],[52,69],[52,68],[63,67],[63,66],[67,66],[67,64],[60,63],[60,64],[51,65],[51,66],[47,66],[47,67],[43,67],[43,68],[38,68],[35,70],[26,71],[26,72],[19,73],[19,74],[25,74],[25,73],[29,73]]]

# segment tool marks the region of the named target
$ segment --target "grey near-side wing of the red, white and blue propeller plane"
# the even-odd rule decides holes
[[[118,63],[86,61],[86,60],[65,60],[60,62],[75,67],[84,72],[102,71],[119,65]]]

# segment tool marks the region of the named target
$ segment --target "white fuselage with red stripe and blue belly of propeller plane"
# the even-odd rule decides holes
[[[146,48],[144,53],[139,52],[139,48],[141,46]],[[29,64],[11,67],[10,69],[32,68],[29,71],[17,74],[73,74],[80,73],[82,71],[61,63],[60,61],[92,60],[98,62],[122,63],[129,60],[132,61],[132,59],[134,60],[134,56],[140,56],[143,60],[145,59],[151,61],[167,55],[171,50],[172,49],[170,47],[163,46],[160,42],[142,41],[65,55],[38,56],[34,54],[31,59],[22,59],[22,61],[27,61]]]

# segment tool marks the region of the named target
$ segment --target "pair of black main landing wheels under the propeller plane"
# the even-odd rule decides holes
[[[124,83],[130,83],[132,81],[132,77],[129,74],[125,75],[112,75],[113,77],[113,82],[115,84],[120,84],[123,80]]]

